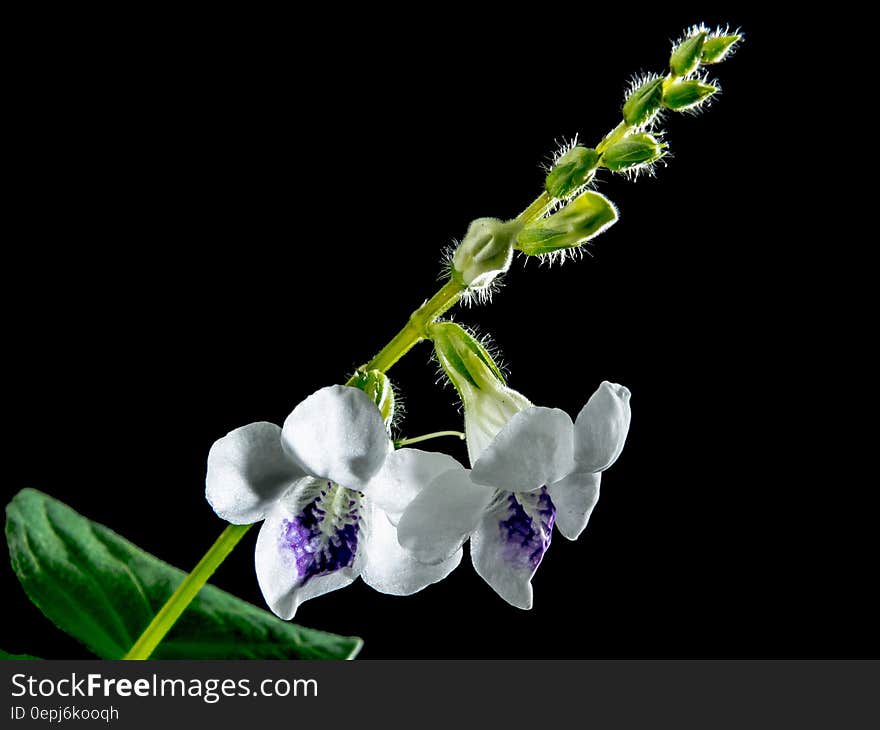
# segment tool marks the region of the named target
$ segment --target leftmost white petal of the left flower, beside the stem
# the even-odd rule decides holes
[[[302,470],[281,447],[274,423],[251,423],[214,442],[208,453],[205,497],[234,525],[262,520]]]

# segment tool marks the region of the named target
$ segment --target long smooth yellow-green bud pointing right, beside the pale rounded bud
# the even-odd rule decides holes
[[[562,210],[529,223],[516,238],[516,247],[529,256],[580,246],[617,220],[617,208],[608,198],[587,190]]]

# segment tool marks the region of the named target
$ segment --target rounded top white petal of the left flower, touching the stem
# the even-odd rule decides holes
[[[376,404],[344,385],[321,388],[294,408],[282,440],[307,474],[349,489],[370,480],[391,445]]]

